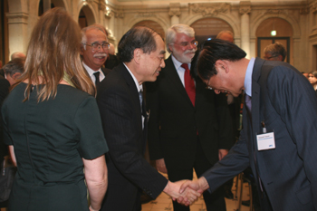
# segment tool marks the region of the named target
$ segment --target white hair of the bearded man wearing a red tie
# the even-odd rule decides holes
[[[166,46],[168,49],[168,53],[170,53],[168,45],[170,43],[175,42],[176,34],[178,34],[178,33],[186,34],[189,37],[195,37],[195,31],[189,25],[187,25],[187,24],[172,25],[170,28],[168,28],[168,32],[166,34]]]

